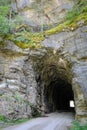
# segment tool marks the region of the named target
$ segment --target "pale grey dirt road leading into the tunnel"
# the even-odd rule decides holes
[[[32,119],[26,123],[11,126],[3,130],[67,130],[67,126],[69,126],[73,120],[73,113],[55,112],[48,114],[47,117]]]

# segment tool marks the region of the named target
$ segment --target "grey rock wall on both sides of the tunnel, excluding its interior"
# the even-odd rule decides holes
[[[84,26],[73,32],[52,35],[42,42],[46,48],[53,49],[54,56],[62,56],[71,65],[76,118],[82,122],[87,122],[86,31],[87,26]],[[9,119],[34,115],[34,108],[44,104],[44,84],[38,82],[40,68],[36,72],[34,66],[48,51],[22,50],[9,41],[6,43],[0,44],[0,114]],[[41,110],[44,110],[43,105]]]

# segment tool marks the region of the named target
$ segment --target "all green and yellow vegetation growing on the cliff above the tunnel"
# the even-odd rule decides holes
[[[75,0],[75,2],[75,6],[67,12],[61,24],[42,33],[35,33],[27,31],[25,27],[25,30],[20,31],[21,25],[16,24],[12,18],[11,0],[0,0],[0,35],[23,49],[40,47],[40,42],[45,39],[44,34],[52,35],[61,31],[73,31],[87,24],[87,0]]]

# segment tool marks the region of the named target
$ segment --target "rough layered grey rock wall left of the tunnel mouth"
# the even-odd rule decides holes
[[[37,83],[28,55],[9,41],[0,44],[0,115],[8,119],[35,114]]]

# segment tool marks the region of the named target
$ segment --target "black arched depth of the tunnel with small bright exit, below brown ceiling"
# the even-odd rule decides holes
[[[45,99],[47,100],[48,113],[54,111],[73,111],[74,94],[72,85],[63,79],[52,81],[45,89]]]

